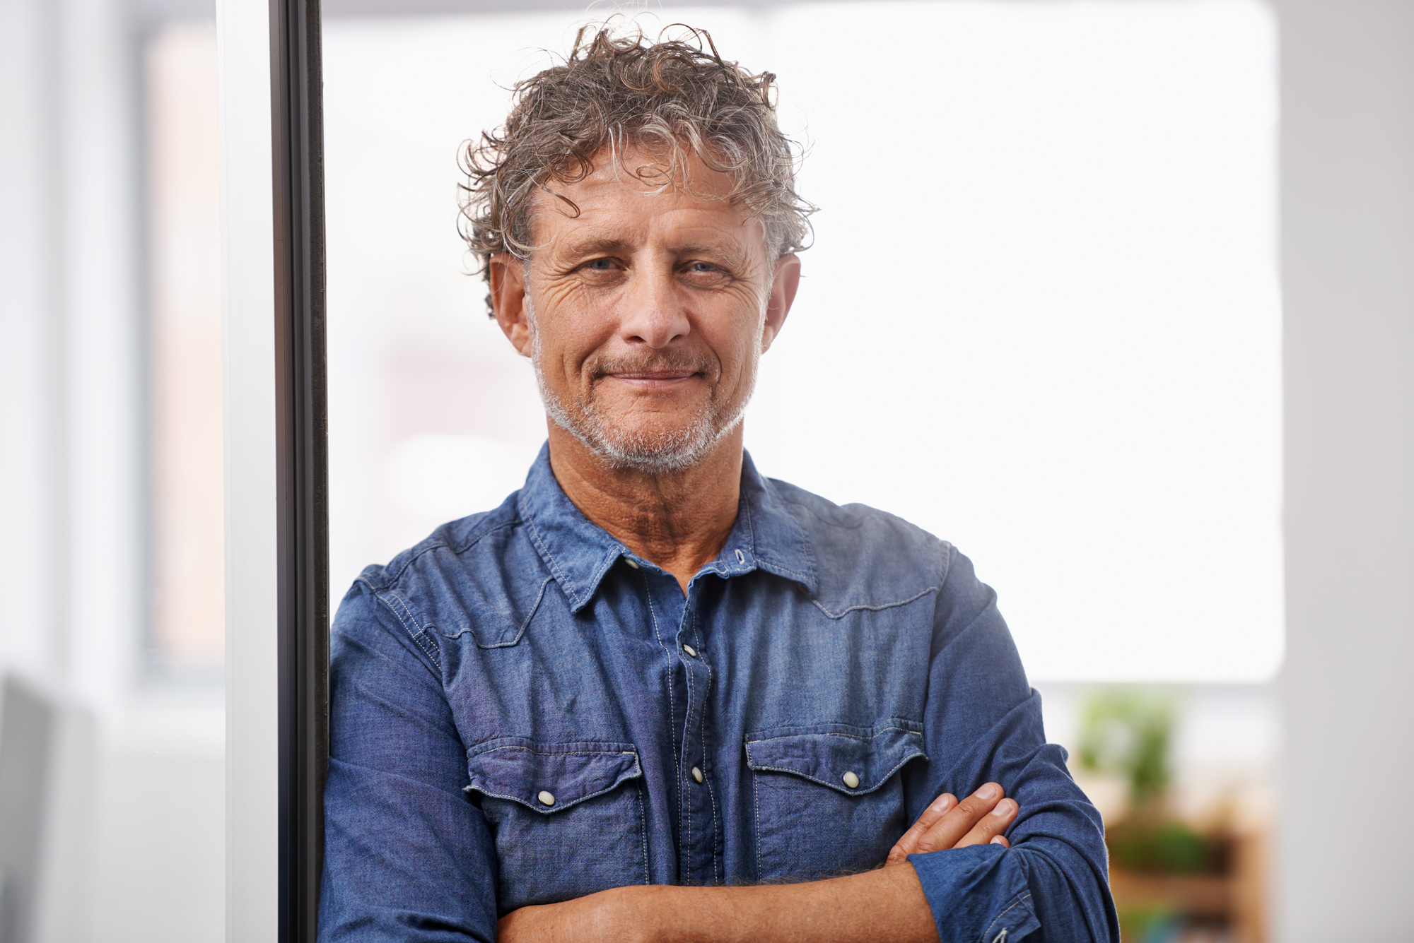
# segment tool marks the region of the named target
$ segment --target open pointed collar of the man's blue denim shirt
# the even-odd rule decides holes
[[[639,560],[622,541],[574,507],[550,469],[550,443],[540,449],[518,495],[520,518],[550,575],[578,613],[594,597],[604,575],[621,556]],[[749,453],[741,462],[741,501],[727,545],[703,572],[723,577],[762,569],[816,591],[810,535],[782,500],[771,479],[756,472]]]

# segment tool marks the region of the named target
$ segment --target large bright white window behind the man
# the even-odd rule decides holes
[[[954,542],[1032,678],[1270,679],[1266,7],[673,7],[648,25],[674,21],[779,75],[822,208],[747,418],[761,470]],[[570,37],[550,14],[327,25],[339,590],[519,487],[544,438],[530,370],[465,275],[454,161]]]

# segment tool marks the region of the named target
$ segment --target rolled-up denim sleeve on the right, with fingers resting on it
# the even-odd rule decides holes
[[[949,548],[923,719],[929,764],[909,774],[916,819],[940,793],[1000,782],[1021,810],[995,844],[909,855],[943,943],[1117,942],[1100,813],[1045,743],[1041,696],[1027,683],[993,590]]]

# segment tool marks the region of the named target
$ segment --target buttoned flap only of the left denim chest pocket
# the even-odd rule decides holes
[[[553,815],[643,775],[633,744],[536,743],[502,737],[467,755],[467,792]]]

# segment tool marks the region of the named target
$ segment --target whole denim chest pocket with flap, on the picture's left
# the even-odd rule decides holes
[[[501,913],[648,884],[632,744],[503,737],[471,750],[467,769],[496,839]]]

